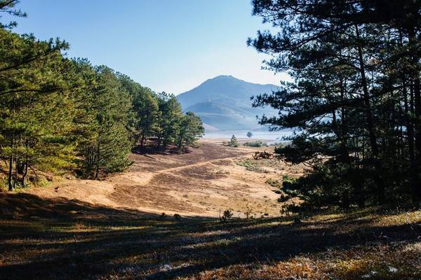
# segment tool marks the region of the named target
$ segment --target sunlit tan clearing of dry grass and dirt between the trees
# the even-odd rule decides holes
[[[265,183],[279,173],[249,171],[237,163],[253,148],[229,148],[208,141],[191,153],[133,154],[128,172],[103,181],[63,180],[29,193],[64,197],[113,208],[182,216],[218,216],[231,209],[236,216],[279,215],[278,195]]]

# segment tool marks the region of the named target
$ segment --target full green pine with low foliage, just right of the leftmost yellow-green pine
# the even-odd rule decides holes
[[[89,141],[81,148],[86,172],[98,179],[100,172],[119,172],[131,165],[131,99],[114,71],[106,66],[98,66],[95,71],[96,87],[89,108],[95,119]]]

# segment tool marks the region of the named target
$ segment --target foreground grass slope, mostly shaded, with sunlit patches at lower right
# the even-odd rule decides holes
[[[0,211],[0,279],[421,279],[419,209],[219,223],[15,194]]]

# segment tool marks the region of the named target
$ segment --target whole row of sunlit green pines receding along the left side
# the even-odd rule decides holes
[[[25,15],[0,1],[0,12]],[[0,28],[0,164],[8,190],[37,172],[75,170],[98,179],[131,165],[133,146],[194,144],[203,125],[173,94],[156,94],[107,66],[69,59],[59,39]]]

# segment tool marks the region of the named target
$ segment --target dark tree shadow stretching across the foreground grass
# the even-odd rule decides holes
[[[412,225],[291,218],[161,218],[77,200],[0,194],[0,279],[173,279],[367,242],[416,241]],[[383,238],[387,236],[387,238]]]

